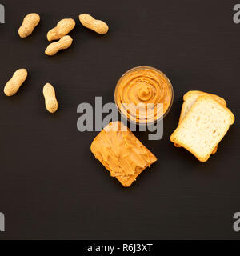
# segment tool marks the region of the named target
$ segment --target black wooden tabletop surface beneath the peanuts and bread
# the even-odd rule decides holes
[[[239,43],[235,1],[13,1],[0,25],[0,239],[234,238],[240,211]],[[42,21],[30,38],[18,37],[25,14]],[[110,26],[100,36],[78,22],[90,13]],[[48,58],[46,32],[62,18],[75,18],[69,50]],[[90,154],[96,132],[77,130],[77,106],[114,102],[118,78],[134,66],[162,70],[174,86],[164,138],[138,138],[157,157],[129,189],[110,178]],[[3,94],[15,70],[29,78],[12,98]],[[59,110],[46,112],[42,86],[51,82]],[[182,95],[203,90],[224,98],[234,126],[209,162],[200,163],[170,143]]]

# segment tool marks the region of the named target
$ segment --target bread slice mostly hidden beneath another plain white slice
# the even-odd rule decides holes
[[[222,105],[226,106],[225,99],[219,97],[218,95],[208,94],[208,93],[205,93],[205,92],[200,91],[200,90],[190,90],[189,92],[187,92],[183,96],[184,102],[182,104],[182,110],[181,110],[181,114],[180,114],[178,124],[180,124],[182,122],[182,120],[186,117],[186,114],[189,112],[191,107],[194,105],[194,102],[196,102],[197,98],[200,97],[200,96],[204,96],[204,95],[212,96],[216,101],[218,101],[218,102],[222,103]],[[176,143],[174,144],[174,146],[181,147]],[[218,146],[216,146],[214,148],[214,151],[213,151],[212,154],[217,153],[217,150],[218,150]]]

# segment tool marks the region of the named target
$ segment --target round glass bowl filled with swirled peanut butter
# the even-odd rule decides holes
[[[138,67],[128,71],[118,81],[115,102],[130,120],[138,123],[155,122],[169,109],[172,91],[169,79],[161,71]]]

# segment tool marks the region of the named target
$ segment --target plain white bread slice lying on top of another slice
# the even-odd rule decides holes
[[[201,162],[234,123],[234,114],[212,96],[200,96],[170,137],[170,141],[189,150]]]

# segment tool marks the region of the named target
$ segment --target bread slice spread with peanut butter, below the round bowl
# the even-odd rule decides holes
[[[157,161],[122,122],[106,126],[94,139],[91,151],[122,186],[131,186],[146,167]]]

